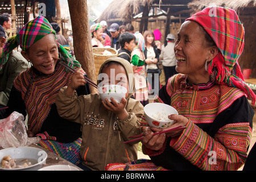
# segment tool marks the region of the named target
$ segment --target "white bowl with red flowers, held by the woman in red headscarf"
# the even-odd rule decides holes
[[[178,112],[167,104],[153,102],[144,106],[144,116],[151,127],[163,129],[174,124],[174,120],[168,118],[170,114],[178,114]]]

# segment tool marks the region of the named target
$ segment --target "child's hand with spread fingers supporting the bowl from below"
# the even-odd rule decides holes
[[[125,119],[129,114],[125,110],[126,102],[127,100],[123,97],[122,101],[118,104],[117,101],[114,100],[114,98],[110,98],[112,102],[109,102],[109,100],[106,98],[105,101],[101,101],[104,107],[113,113],[117,114],[119,119]]]

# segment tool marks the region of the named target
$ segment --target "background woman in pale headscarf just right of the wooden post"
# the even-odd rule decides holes
[[[92,47],[104,47],[102,41],[102,27],[100,23],[95,23],[90,26],[90,33],[92,34]]]

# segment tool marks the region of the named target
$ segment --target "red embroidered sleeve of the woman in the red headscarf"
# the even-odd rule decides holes
[[[245,162],[250,137],[249,123],[226,125],[212,138],[189,122],[170,146],[203,170],[237,170]]]

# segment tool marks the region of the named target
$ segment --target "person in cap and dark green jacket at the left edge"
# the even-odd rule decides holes
[[[2,55],[5,42],[5,30],[0,25],[0,108],[6,107],[16,76],[28,68],[27,60],[21,53],[14,50],[9,53],[7,61],[3,64],[4,57]],[[5,118],[5,111],[0,110],[0,119]]]

